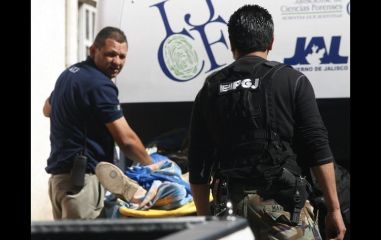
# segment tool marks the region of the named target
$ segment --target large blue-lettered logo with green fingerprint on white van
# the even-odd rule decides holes
[[[188,13],[184,16],[184,19],[191,29],[187,31],[183,28],[180,32],[174,32],[169,25],[167,13],[164,8],[164,4],[167,1],[168,0],[165,0],[150,6],[157,7],[159,10],[166,31],[166,36],[161,42],[157,53],[159,64],[164,74],[174,81],[185,82],[197,77],[201,71],[203,71],[205,61],[201,61],[201,59],[198,58],[197,52],[192,46],[192,43],[194,43],[195,40],[190,31],[198,32],[208,55],[210,69],[208,69],[205,73],[226,65],[226,63],[220,65],[216,62],[211,49],[211,46],[217,43],[222,43],[227,49],[229,49],[222,31],[220,39],[212,43],[208,41],[205,33],[205,27],[209,23],[217,22],[224,24],[224,26],[227,24],[226,21],[219,15],[212,20],[215,14],[211,0],[206,0],[210,14],[209,19],[201,25],[193,25],[190,21],[191,14]]]

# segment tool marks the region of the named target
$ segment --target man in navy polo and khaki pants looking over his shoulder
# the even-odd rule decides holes
[[[127,48],[120,29],[103,28],[90,56],[61,73],[45,102],[51,143],[46,171],[51,174],[49,196],[56,220],[100,216],[104,189],[94,174],[95,166],[100,161],[113,162],[114,141],[132,160],[152,163],[124,118],[118,89],[111,81],[122,70]],[[82,188],[73,186],[73,161],[78,156],[87,158]]]

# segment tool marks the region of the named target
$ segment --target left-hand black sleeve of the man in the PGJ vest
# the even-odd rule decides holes
[[[207,130],[204,108],[207,107],[206,85],[197,94],[191,113],[190,144],[188,150],[189,182],[191,184],[206,184],[208,181],[213,143]]]

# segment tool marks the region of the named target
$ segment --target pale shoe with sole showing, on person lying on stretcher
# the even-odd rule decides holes
[[[95,174],[100,184],[109,192],[129,202],[140,185],[127,177],[122,170],[109,162],[99,162]]]

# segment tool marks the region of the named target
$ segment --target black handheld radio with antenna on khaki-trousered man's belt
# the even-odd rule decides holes
[[[86,157],[86,123],[85,123],[85,136],[84,136],[84,147],[83,153],[77,154],[73,159],[73,186],[77,188],[83,188],[85,186],[85,174],[87,166],[87,157]]]

